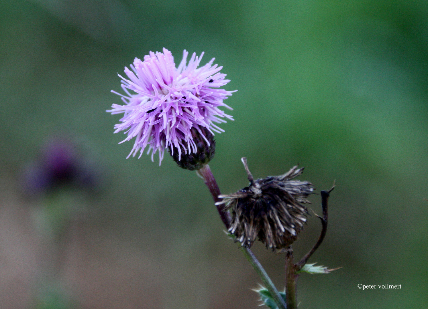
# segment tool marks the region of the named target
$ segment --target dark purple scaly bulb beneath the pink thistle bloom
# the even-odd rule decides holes
[[[169,153],[178,166],[186,170],[199,170],[214,158],[215,140],[214,135],[205,127],[193,127],[192,133],[193,146],[189,144],[186,149],[180,146],[169,148]],[[183,143],[187,144],[187,143]]]

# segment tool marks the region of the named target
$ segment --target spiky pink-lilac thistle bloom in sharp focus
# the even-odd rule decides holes
[[[130,65],[132,71],[125,67],[128,79],[119,75],[126,95],[112,92],[119,94],[125,105],[113,104],[107,112],[112,115],[124,113],[120,119],[122,123],[114,126],[114,133],[125,130],[124,133],[128,134],[120,143],[135,137],[134,147],[127,158],[135,156],[139,150],[140,158],[147,146],[147,154],[152,152],[152,161],[159,150],[159,165],[166,148],[173,154],[175,147],[179,158],[182,151],[185,154],[196,153],[190,129],[197,129],[209,146],[203,134],[206,130],[201,128],[208,129],[214,135],[214,132],[224,132],[214,123],[226,122],[224,118],[233,120],[219,106],[232,109],[223,100],[236,90],[219,88],[230,80],[224,79],[226,74],[219,72],[223,67],[212,65],[214,58],[198,68],[203,54],[197,57],[193,53],[186,65],[188,53],[184,50],[183,60],[175,68],[174,57],[163,48],[163,53],[150,52],[144,56],[144,61],[135,58],[134,65]]]

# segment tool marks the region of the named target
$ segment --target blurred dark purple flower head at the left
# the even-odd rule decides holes
[[[95,188],[97,176],[71,142],[54,139],[42,150],[40,159],[27,167],[24,182],[27,192],[41,193],[63,185]]]

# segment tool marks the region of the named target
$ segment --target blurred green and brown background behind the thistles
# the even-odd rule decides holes
[[[329,230],[302,275],[299,308],[427,308],[426,1],[34,0],[0,3],[0,302],[32,308],[39,256],[22,169],[67,135],[98,162],[103,189],[65,244],[77,308],[256,308],[260,282],[223,232],[208,190],[167,155],[125,159],[123,68],[149,50],[205,51],[238,89],[210,163],[223,193],[299,163],[318,192],[336,180]],[[320,197],[311,197],[321,212]],[[294,244],[318,238],[315,216]],[[284,256],[254,252],[278,288]],[[401,284],[361,290],[357,284]]]

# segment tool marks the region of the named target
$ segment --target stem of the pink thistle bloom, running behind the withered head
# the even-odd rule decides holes
[[[211,172],[211,169],[209,165],[205,165],[202,168],[200,168],[197,171],[198,175],[201,176],[205,182],[205,185],[207,185],[208,190],[211,192],[211,195],[214,199],[214,202],[220,202],[221,199],[218,197],[220,195],[220,188],[217,185],[217,181],[214,178],[214,175]],[[220,204],[217,205],[217,211],[220,215],[221,220],[223,221],[226,228],[229,229],[231,217],[228,211],[224,209],[224,205]],[[276,289],[275,285],[273,284],[272,280],[270,280],[268,273],[266,273],[265,269],[263,268],[262,264],[257,260],[256,256],[254,255],[253,251],[251,251],[249,248],[241,247],[241,251],[244,253],[247,260],[251,263],[256,273],[260,276],[263,283],[266,285],[266,288],[270,292],[270,295],[272,296],[273,300],[275,301],[276,305],[279,309],[287,309],[285,306],[284,299],[281,297],[281,295],[278,293],[278,290]],[[296,308],[296,307],[295,307]]]

